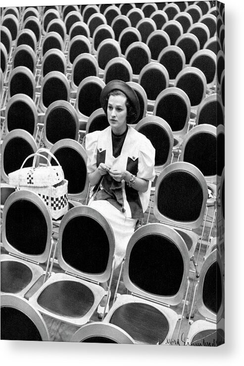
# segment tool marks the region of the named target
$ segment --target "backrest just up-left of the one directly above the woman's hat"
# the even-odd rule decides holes
[[[98,46],[97,60],[98,66],[104,70],[108,61],[114,57],[121,56],[119,43],[113,39],[105,39]]]

